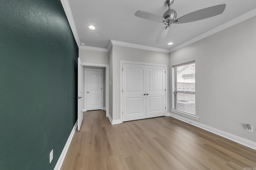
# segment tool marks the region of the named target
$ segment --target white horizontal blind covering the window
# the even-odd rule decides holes
[[[196,115],[195,62],[173,66],[174,109]]]

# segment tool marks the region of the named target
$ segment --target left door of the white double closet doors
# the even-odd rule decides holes
[[[123,64],[123,121],[146,118],[145,75],[145,65]]]

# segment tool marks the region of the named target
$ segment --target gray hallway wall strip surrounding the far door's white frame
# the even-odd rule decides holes
[[[84,74],[84,77],[83,77],[83,91],[85,89],[85,69],[86,68],[89,68],[89,69],[100,69],[100,70],[103,70],[103,87],[102,87],[102,90],[103,90],[103,107],[106,107],[106,67],[94,67],[94,66],[83,66],[83,74]],[[85,102],[86,102],[86,91],[84,91],[84,96],[83,96],[83,109],[85,109]]]

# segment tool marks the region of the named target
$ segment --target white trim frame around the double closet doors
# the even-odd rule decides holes
[[[123,89],[123,64],[140,64],[140,65],[150,65],[150,66],[163,66],[164,67],[164,70],[165,70],[165,115],[168,116],[168,71],[167,71],[167,65],[166,64],[156,64],[156,63],[145,63],[145,62],[136,62],[136,61],[124,61],[124,60],[121,60],[120,61],[120,123],[123,123],[123,92],[122,92],[122,89]]]

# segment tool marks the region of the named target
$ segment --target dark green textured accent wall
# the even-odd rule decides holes
[[[77,57],[60,0],[1,0],[1,170],[54,169],[77,119]]]

